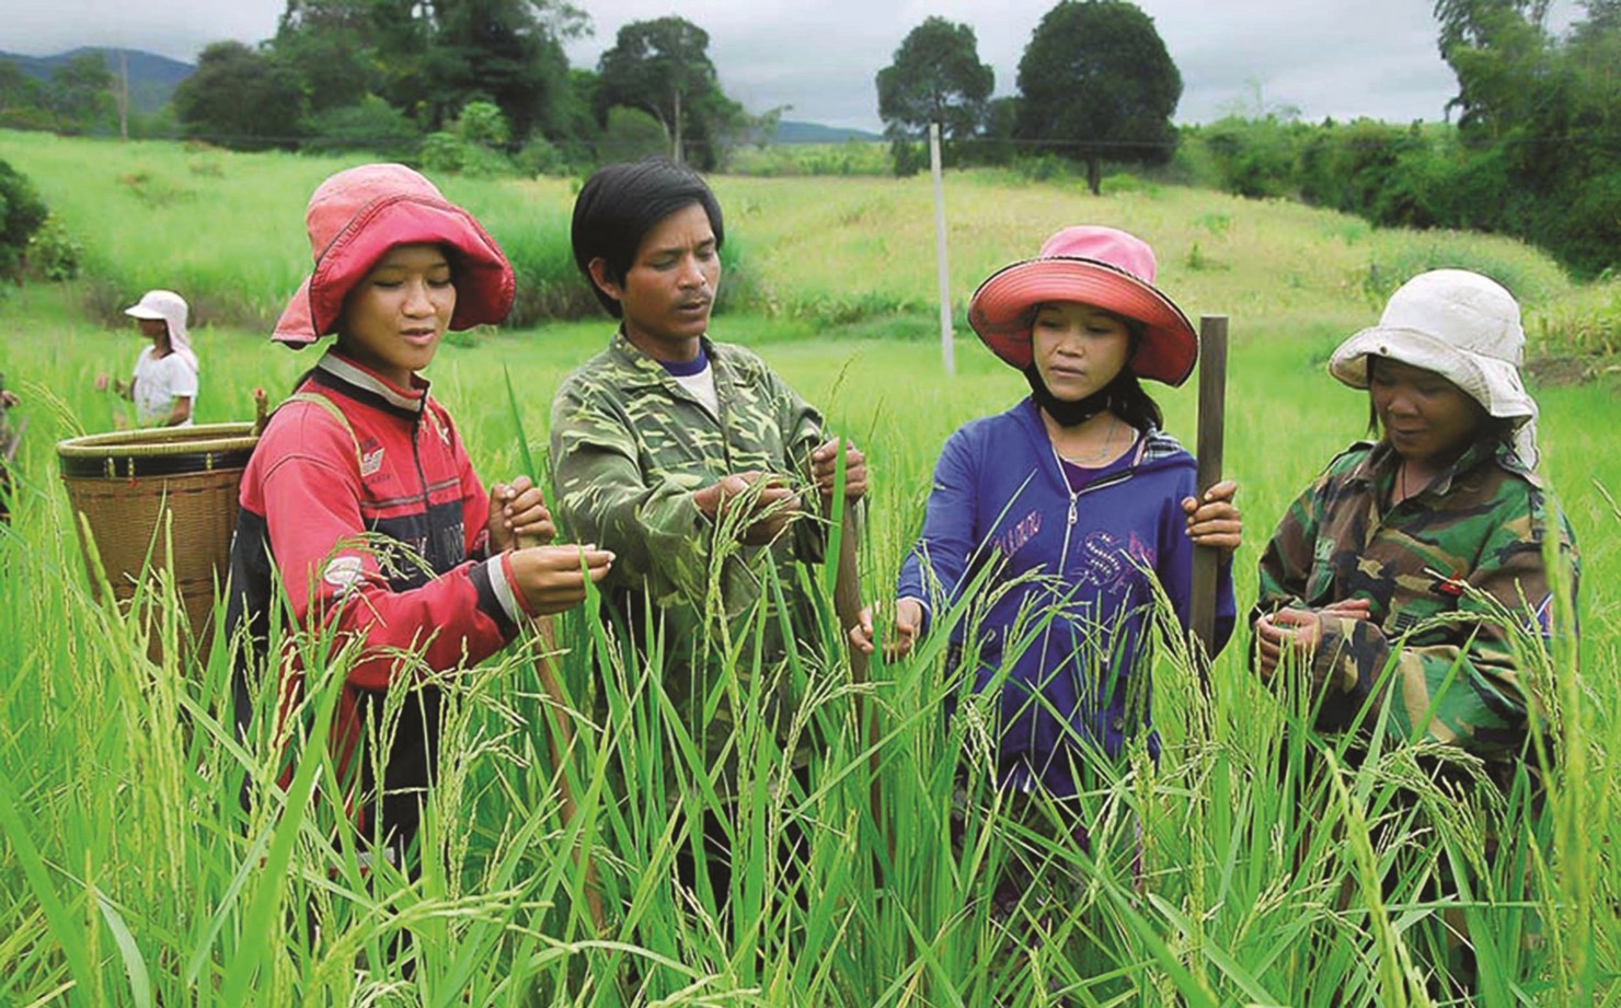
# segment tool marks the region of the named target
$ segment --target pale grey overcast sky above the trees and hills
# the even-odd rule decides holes
[[[710,34],[721,86],[749,112],[879,130],[874,75],[930,15],[966,23],[999,96],[1057,0],[577,0],[595,34],[569,45],[595,66],[619,26],[679,13]],[[258,42],[284,0],[0,0],[0,50],[50,55],[123,45],[196,62],[217,39]],[[1177,122],[1292,105],[1311,122],[1367,115],[1438,120],[1457,92],[1436,52],[1431,0],[1140,0],[1182,70]],[[1556,0],[1568,24],[1574,0]]]

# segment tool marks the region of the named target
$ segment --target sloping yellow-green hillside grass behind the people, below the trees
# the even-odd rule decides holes
[[[225,154],[172,143],[128,143],[0,131],[0,157],[29,175],[70,237],[84,246],[92,318],[115,321],[149,287],[185,293],[203,321],[264,329],[308,269],[303,206],[329,173],[360,157]],[[577,182],[436,180],[501,241],[519,272],[512,324],[598,318],[569,251]],[[935,316],[934,196],[927,175],[905,180],[720,177],[726,211],[723,308],[817,329]],[[1504,282],[1542,337],[1533,355],[1590,353],[1615,344],[1615,280],[1576,288],[1545,254],[1509,238],[1371,229],[1287,201],[1251,201],[1180,186],[1117,186],[1094,198],[1076,185],[1020,182],[1008,172],[945,180],[952,300],[961,318],[974,287],[1036,253],[1057,227],[1109,224],[1144,237],[1159,284],[1196,316],[1222,313],[1250,332],[1349,331],[1405,277],[1465,266]],[[219,207],[230,207],[220,217]],[[919,326],[919,321],[924,326]]]

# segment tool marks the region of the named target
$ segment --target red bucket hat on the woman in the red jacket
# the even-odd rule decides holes
[[[396,245],[443,245],[456,274],[451,329],[494,324],[512,308],[512,264],[472,214],[400,164],[332,175],[305,211],[314,271],[287,303],[271,339],[303,347],[337,329],[344,298]]]

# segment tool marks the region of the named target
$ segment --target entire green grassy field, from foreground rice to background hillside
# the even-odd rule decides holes
[[[979,752],[982,739],[971,716],[942,726],[947,669],[939,648],[926,648],[877,668],[866,692],[849,687],[841,663],[807,658],[794,669],[809,687],[806,721],[827,739],[809,794],[767,788],[768,739],[741,733],[752,757],[744,786],[759,786],[742,802],[734,890],[718,914],[715,899],[679,893],[669,867],[689,843],[681,814],[710,799],[692,767],[663,755],[658,690],[639,669],[609,661],[613,673],[595,682],[609,713],[592,715],[584,697],[605,651],[584,617],[562,629],[564,682],[579,702],[577,745],[561,768],[527,660],[456,682],[423,877],[405,885],[324,843],[331,802],[300,801],[329,771],[319,760],[305,762],[313,776],[295,781],[285,815],[233,818],[243,771],[269,757],[238,747],[220,723],[225,656],[154,666],[141,627],[94,604],[52,452],[58,438],[113,423],[113,404],[91,384],[133,363],[138,339],[117,308],[149,285],[199,306],[201,421],[243,420],[254,387],[289,387],[313,357],[269,345],[259,326],[303,269],[308,191],[342,162],[16,133],[0,133],[0,157],[36,180],[88,266],[81,280],[31,284],[0,301],[0,371],[24,397],[16,416],[29,420],[18,517],[0,530],[0,1003],[1444,1003],[1423,980],[1448,912],[1469,919],[1480,946],[1482,1005],[1621,998],[1613,374],[1533,387],[1545,472],[1582,546],[1582,643],[1579,656],[1559,650],[1533,664],[1561,726],[1545,830],[1506,838],[1475,891],[1426,888],[1436,864],[1478,852],[1482,826],[1439,794],[1426,792],[1425,818],[1399,812],[1392,792],[1414,778],[1404,752],[1347,771],[1319,805],[1294,804],[1274,768],[1300,765],[1307,733],[1290,731],[1298,715],[1255,684],[1238,647],[1216,661],[1208,698],[1191,663],[1167,651],[1156,668],[1164,758],[1138,755],[1086,797],[1101,851],[1131,846],[1141,828],[1141,885],[1118,857],[1055,848],[1000,809],[971,817],[953,846],[955,754]],[[1023,381],[971,337],[956,344],[958,374],[940,374],[927,180],[715,185],[728,211],[731,300],[713,334],[757,345],[867,449],[862,569],[867,595],[882,595],[921,522],[940,444],[1018,399]],[[551,285],[537,303],[584,313],[588,301],[564,290],[577,284],[566,182],[444,188],[515,250],[527,277]],[[1075,222],[1144,235],[1162,287],[1190,314],[1230,316],[1225,455],[1248,522],[1240,608],[1287,502],[1365,425],[1365,400],[1323,361],[1401,279],[1439,264],[1499,275],[1524,298],[1532,331],[1561,350],[1590,348],[1587,308],[1615,305],[1613,285],[1572,287],[1511,241],[1375,232],[1282,203],[1151,186],[1099,199],[994,173],[953,175],[947,201],[958,319],[979,279]],[[553,391],[608,332],[598,316],[478,332],[441,352],[430,378],[481,475],[522,465],[503,369],[538,454]],[[1190,444],[1193,384],[1153,389],[1169,429]],[[877,809],[859,710],[872,711],[880,739]],[[580,799],[569,822],[558,773]],[[969,775],[969,797],[989,802],[981,776]],[[794,878],[770,856],[789,822],[810,835],[810,869]],[[603,927],[587,912],[574,851],[590,852]],[[1010,951],[986,898],[1000,867],[1031,852],[1044,880],[1078,877],[1080,896],[1028,903],[1031,922],[1015,932],[1039,920],[1047,938]],[[1388,873],[1394,882],[1381,886]],[[1342,888],[1345,878],[1354,885]],[[413,937],[410,974],[387,955],[402,932]]]

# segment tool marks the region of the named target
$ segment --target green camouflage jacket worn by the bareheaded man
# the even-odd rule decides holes
[[[715,755],[733,716],[723,703],[716,718],[700,723],[697,707],[712,684],[694,676],[733,650],[739,632],[754,632],[751,616],[765,621],[763,668],[783,656],[776,614],[755,613],[770,596],[767,567],[775,567],[789,626],[807,637],[814,606],[796,567],[823,559],[825,535],[815,515],[802,515],[773,541],[749,545],[704,514],[697,491],[731,473],[759,472],[799,483],[801,502],[820,501],[804,481],[822,444],[822,416],[744,347],[705,337],[704,350],[718,415],[616,334],[558,391],[551,460],[556,517],[580,541],[614,551],[603,580],[613,616],[639,647],[657,640],[663,648],[665,687]],[[780,707],[786,690],[772,700]]]

